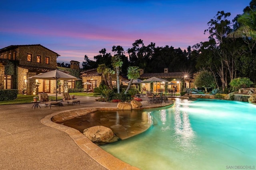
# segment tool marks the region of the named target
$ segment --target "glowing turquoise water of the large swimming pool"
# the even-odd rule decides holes
[[[150,114],[154,125],[146,132],[101,147],[142,170],[256,168],[255,105],[176,99]]]

